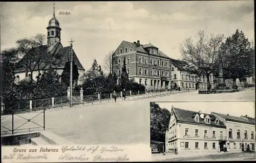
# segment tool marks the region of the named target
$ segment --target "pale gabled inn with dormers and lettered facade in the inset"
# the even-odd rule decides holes
[[[216,116],[172,107],[165,134],[165,152],[202,153],[218,152],[226,142],[226,126]]]

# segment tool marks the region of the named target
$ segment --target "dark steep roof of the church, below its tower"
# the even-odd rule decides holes
[[[16,73],[26,71],[27,67],[26,66],[20,66],[20,65],[22,65],[22,64],[23,65],[28,65],[28,62],[32,61],[30,58],[33,55],[31,55],[31,54],[33,54],[34,51],[38,50],[38,48],[39,47],[32,48],[30,50],[30,54],[25,55],[22,58],[22,60],[19,61],[18,68],[15,70]],[[56,43],[51,49],[49,49],[49,47],[47,47],[47,45],[42,45],[41,49],[45,50],[45,53],[47,53],[47,51],[48,51],[47,55],[53,55],[53,58],[54,58],[54,56],[56,56],[57,65],[54,66],[54,68],[64,68],[65,64],[69,61],[70,46],[62,47],[61,43]],[[77,58],[76,53],[75,53],[74,50],[73,50],[73,60],[74,60],[75,64],[77,65],[78,69],[84,70],[84,68],[81,65],[79,59]],[[50,67],[50,63],[40,63],[40,65],[39,65],[40,69],[46,69],[47,70],[47,69],[49,69],[49,67]],[[30,69],[33,69],[34,71],[36,71],[38,68],[37,68],[36,64],[33,64]]]

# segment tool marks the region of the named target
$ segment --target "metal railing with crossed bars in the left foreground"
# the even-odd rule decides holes
[[[29,109],[30,111],[30,109]],[[26,113],[26,109],[24,110],[12,110],[11,113],[5,116],[1,116],[1,135],[2,134],[14,134],[21,130],[26,131],[33,131],[40,128],[43,128],[45,130],[45,109],[42,111],[35,111],[35,112],[29,112],[27,114],[20,114],[20,113]],[[28,115],[30,114],[30,115]],[[41,120],[36,121],[35,118],[39,115],[43,115],[42,122],[43,124],[38,124],[41,122]],[[18,119],[21,118],[21,119]],[[14,121],[15,120],[15,121]],[[25,123],[20,122],[22,120],[26,120]],[[15,125],[15,122],[17,125]],[[21,124],[21,125],[20,125]],[[28,124],[27,127],[23,127],[26,124]],[[16,127],[17,126],[17,127]]]

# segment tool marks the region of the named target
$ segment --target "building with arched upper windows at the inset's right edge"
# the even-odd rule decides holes
[[[212,112],[211,115],[218,117],[226,126],[225,139],[229,150],[240,151],[242,144],[250,150],[255,150],[255,118],[246,116],[235,117],[229,114],[224,115]]]

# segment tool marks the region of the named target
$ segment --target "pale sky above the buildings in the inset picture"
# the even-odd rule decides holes
[[[229,114],[230,116],[249,116],[255,117],[254,101],[216,101],[216,102],[156,102],[161,108],[165,107],[168,111],[172,110],[172,105],[184,110],[210,114],[211,112]]]

